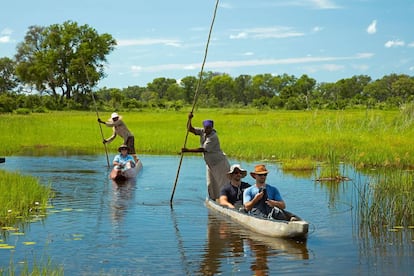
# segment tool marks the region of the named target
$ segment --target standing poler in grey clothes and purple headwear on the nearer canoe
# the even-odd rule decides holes
[[[207,190],[211,199],[220,196],[221,187],[227,182],[229,161],[220,148],[219,138],[212,120],[203,121],[203,128],[195,128],[191,124],[193,114],[188,114],[188,131],[200,136],[200,147],[195,149],[182,148],[181,152],[202,152],[207,166]]]

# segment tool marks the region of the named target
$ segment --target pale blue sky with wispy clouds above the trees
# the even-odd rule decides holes
[[[74,21],[117,46],[98,87],[179,81],[202,68],[217,0],[13,0],[2,3],[0,58],[30,26]],[[318,83],[355,75],[414,75],[414,1],[219,0],[204,72],[304,74]]]

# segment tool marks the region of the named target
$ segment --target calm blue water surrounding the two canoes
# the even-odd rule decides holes
[[[57,197],[44,220],[21,234],[8,233],[2,242],[15,250],[0,249],[0,266],[8,267],[10,259],[18,268],[25,260],[51,258],[65,275],[412,273],[414,230],[395,231],[387,239],[364,235],[355,215],[357,181],[327,186],[266,163],[268,183],[279,188],[287,209],[310,223],[307,241],[278,240],[240,228],[204,206],[201,157],[184,157],[173,208],[179,157],[141,159],[137,180],[118,186],[108,179],[105,156],[7,157],[0,169],[39,177]],[[251,171],[255,163],[241,164]],[[346,174],[364,181],[351,170]],[[253,183],[250,176],[245,180]]]

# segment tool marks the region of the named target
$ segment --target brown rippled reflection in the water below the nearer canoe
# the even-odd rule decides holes
[[[207,228],[205,253],[198,271],[203,275],[217,275],[228,271],[222,268],[228,263],[232,266],[231,271],[240,272],[240,266],[246,260],[254,275],[268,275],[269,257],[272,262],[278,256],[296,260],[309,258],[306,241],[262,236],[241,228],[237,223],[218,214],[209,212]],[[224,264],[224,261],[227,263]]]

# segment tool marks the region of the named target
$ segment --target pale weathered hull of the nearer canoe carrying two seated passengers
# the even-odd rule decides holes
[[[306,238],[309,223],[299,218],[298,221],[263,219],[234,209],[223,207],[210,199],[206,200],[208,208],[230,217],[244,227],[268,237]]]

